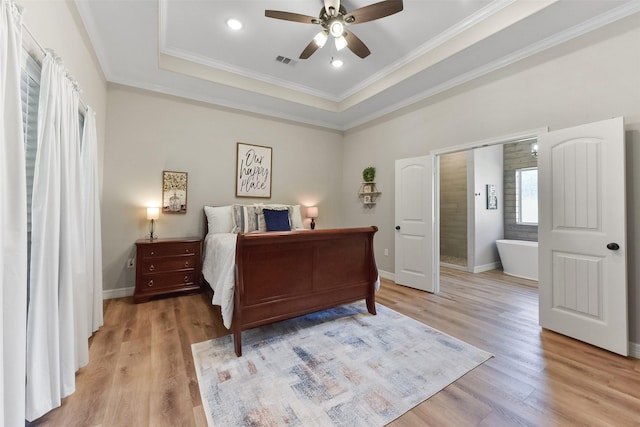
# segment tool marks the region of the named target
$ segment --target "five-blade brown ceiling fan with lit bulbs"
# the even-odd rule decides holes
[[[340,0],[324,0],[324,7],[320,10],[318,18],[279,10],[265,10],[264,15],[268,18],[318,24],[322,27],[322,30],[316,34],[302,51],[300,59],[309,58],[316,50],[325,45],[329,36],[334,38],[337,50],[348,47],[360,58],[366,58],[371,51],[362,40],[347,30],[346,27],[393,15],[402,11],[402,8],[402,0],[385,0],[347,12],[345,7],[340,4]]]

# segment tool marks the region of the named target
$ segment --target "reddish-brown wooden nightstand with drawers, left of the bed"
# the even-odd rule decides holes
[[[136,241],[136,290],[133,301],[201,290],[202,239]]]

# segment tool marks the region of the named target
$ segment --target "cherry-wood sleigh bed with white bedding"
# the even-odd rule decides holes
[[[290,219],[291,231],[246,231],[233,224],[229,232],[221,208],[207,212],[203,276],[233,331],[238,356],[246,329],[358,300],[376,314],[377,227],[306,230]],[[211,209],[225,212],[218,216],[222,227],[212,222]]]

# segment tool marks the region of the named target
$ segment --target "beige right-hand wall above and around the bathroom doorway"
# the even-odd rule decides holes
[[[345,133],[345,222],[380,228],[376,259],[394,271],[393,180],[396,159],[430,150],[548,126],[566,128],[616,116],[638,122],[640,114],[640,14],[608,25],[517,64]],[[636,139],[630,144],[638,144]],[[634,149],[629,180],[638,180],[640,158]],[[375,209],[363,213],[348,196],[363,164],[377,168],[383,192]],[[629,203],[638,207],[638,190]],[[632,208],[630,208],[632,209]],[[629,213],[631,240],[638,242],[640,211]],[[638,243],[636,243],[638,245]],[[640,247],[640,246],[637,246]],[[383,248],[389,248],[384,256]],[[630,248],[631,249],[631,248]],[[640,308],[640,252],[629,252],[634,269],[630,312]],[[631,277],[631,276],[630,276]],[[640,318],[632,314],[631,340],[640,342]]]

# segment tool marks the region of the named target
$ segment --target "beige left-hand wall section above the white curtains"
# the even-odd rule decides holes
[[[98,159],[103,182],[107,83],[75,2],[21,0],[23,22],[44,48],[53,49],[78,81],[80,99],[96,112]],[[25,41],[29,36],[25,33]]]

